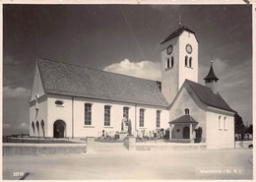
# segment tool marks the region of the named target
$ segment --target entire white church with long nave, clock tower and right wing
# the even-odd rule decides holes
[[[169,130],[171,142],[234,147],[234,113],[218,92],[213,63],[198,84],[198,40],[179,27],[161,42],[161,82],[37,59],[30,98],[30,135],[82,138]]]

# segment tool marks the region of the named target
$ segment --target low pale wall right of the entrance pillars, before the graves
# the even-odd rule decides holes
[[[136,144],[136,151],[206,150],[206,144]]]

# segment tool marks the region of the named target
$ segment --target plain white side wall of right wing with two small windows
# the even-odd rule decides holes
[[[221,123],[219,123],[220,117]],[[224,118],[227,122],[226,128]],[[207,111],[207,149],[232,148],[234,148],[234,117],[220,111]]]

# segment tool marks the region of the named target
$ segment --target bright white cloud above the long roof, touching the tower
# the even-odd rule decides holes
[[[106,66],[103,70],[143,79],[160,81],[160,63],[154,63],[152,61],[134,63],[130,62],[129,59],[124,59],[120,63],[114,63]]]

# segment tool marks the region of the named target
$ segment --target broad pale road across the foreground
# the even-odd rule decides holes
[[[252,150],[4,156],[3,179],[252,179]],[[207,174],[203,174],[207,172]]]

